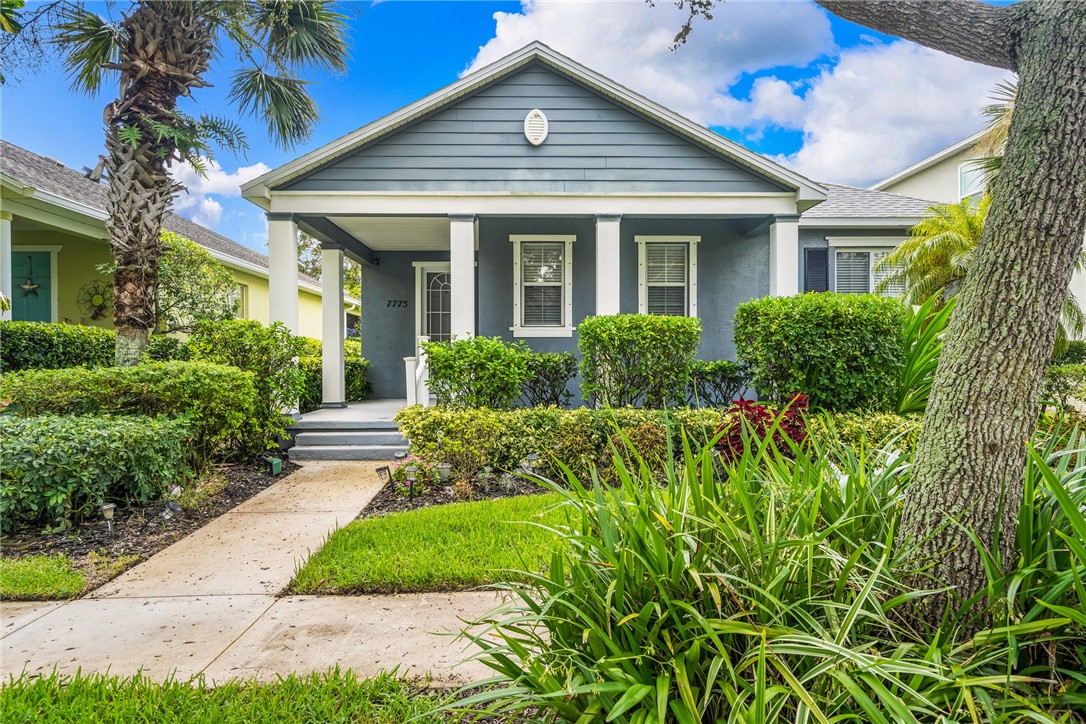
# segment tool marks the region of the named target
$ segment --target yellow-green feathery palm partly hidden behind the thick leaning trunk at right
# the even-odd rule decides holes
[[[875,292],[904,287],[908,304],[920,306],[935,297],[933,312],[942,308],[958,293],[969,272],[990,207],[988,195],[980,202],[963,199],[929,207],[927,216],[909,230],[909,238],[875,265],[881,275]],[[1079,252],[1075,267],[1086,271],[1086,252]],[[1053,356],[1062,354],[1068,341],[1082,336],[1086,329],[1086,315],[1070,290],[1060,314]]]

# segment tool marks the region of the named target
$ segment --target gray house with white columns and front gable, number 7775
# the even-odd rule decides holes
[[[805,178],[542,43],[242,192],[267,213],[270,318],[296,326],[299,229],[321,243],[329,407],[342,254],[363,264],[372,394],[409,398],[419,338],[576,352],[591,315],[696,316],[698,355],[734,357],[737,305],[871,291],[930,204]]]

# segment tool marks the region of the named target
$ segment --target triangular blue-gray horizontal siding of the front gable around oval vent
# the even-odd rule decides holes
[[[523,135],[534,107],[540,147]],[[532,64],[286,187],[304,191],[773,192],[779,185]]]

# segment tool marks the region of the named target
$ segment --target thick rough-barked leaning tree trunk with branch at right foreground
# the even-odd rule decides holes
[[[924,617],[938,621],[944,604],[957,610],[986,584],[969,531],[1005,569],[1015,558],[1026,441],[1086,231],[1086,3],[1027,0],[985,10],[988,25],[977,27],[956,14],[958,1],[902,9],[819,1],[847,20],[970,60],[989,62],[980,49],[987,43],[989,64],[1019,72],[1002,172],[946,334],[897,539],[954,587],[922,605]],[[942,27],[930,27],[940,14]],[[974,47],[945,41],[947,28]],[[1011,63],[995,62],[1001,54]]]

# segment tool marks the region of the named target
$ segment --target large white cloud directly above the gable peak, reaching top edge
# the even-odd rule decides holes
[[[810,3],[727,2],[672,51],[685,17],[668,0],[526,0],[519,13],[494,14],[494,38],[468,72],[540,40],[698,123],[735,126],[750,118],[752,103],[728,92],[743,74],[807,65],[834,48],[829,18]]]

